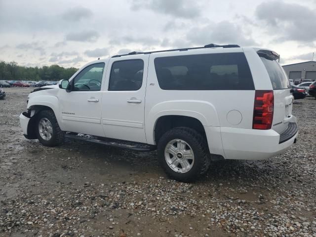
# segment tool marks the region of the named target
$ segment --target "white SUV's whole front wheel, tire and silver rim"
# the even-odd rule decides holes
[[[40,143],[47,147],[55,147],[64,141],[63,132],[54,113],[50,110],[41,111],[37,116],[37,137]]]

